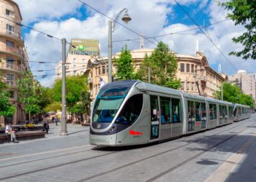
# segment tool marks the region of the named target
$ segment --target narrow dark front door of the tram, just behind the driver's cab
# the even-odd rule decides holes
[[[151,110],[151,135],[150,139],[158,139],[159,137],[159,105],[156,95],[150,95]]]

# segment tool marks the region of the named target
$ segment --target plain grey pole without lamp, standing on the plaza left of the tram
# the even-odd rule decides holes
[[[62,42],[62,89],[61,89],[61,132],[60,136],[68,135],[67,133],[67,110],[66,110],[66,39]]]

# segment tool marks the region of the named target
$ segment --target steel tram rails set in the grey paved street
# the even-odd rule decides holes
[[[251,121],[249,120],[248,122],[251,122]],[[246,123],[248,123],[248,122],[243,122],[243,123],[238,124],[238,125],[236,125],[236,126],[234,126],[234,127],[228,128],[228,130],[232,130],[233,128],[240,127],[241,125],[244,125],[244,124],[246,124]],[[244,129],[244,130],[245,130],[245,129]],[[219,135],[219,134],[222,133],[222,132],[227,132],[227,130],[222,130],[222,131],[217,132],[217,133],[215,133],[214,135],[211,135],[210,137],[206,137],[206,138],[204,138],[204,139],[195,140],[195,142],[208,140],[209,138],[213,138],[215,135]],[[242,132],[242,131],[241,131],[241,132]],[[240,133],[240,132],[237,132],[236,134],[231,135],[230,138],[232,138],[232,137],[235,136],[235,135],[238,135],[238,133]],[[225,141],[227,141],[227,140],[230,139],[230,138],[227,138]],[[217,143],[217,145],[219,145],[219,144],[221,144],[221,143],[223,143],[223,142],[225,142],[225,141],[221,141],[220,143]],[[168,150],[159,152],[159,153],[157,153],[157,154],[153,154],[153,155],[151,155],[151,156],[144,157],[143,159],[136,160],[135,162],[130,162],[130,163],[126,164],[126,165],[121,165],[121,166],[116,167],[116,168],[113,168],[113,169],[111,169],[111,170],[107,170],[107,171],[105,171],[105,172],[98,173],[98,174],[96,174],[96,175],[91,175],[91,176],[89,176],[88,178],[83,178],[83,179],[81,179],[80,181],[89,181],[90,179],[97,178],[97,177],[99,177],[99,176],[101,176],[101,175],[106,175],[106,174],[108,174],[108,173],[112,173],[112,172],[114,172],[114,171],[116,171],[116,170],[121,170],[121,169],[124,168],[124,167],[128,167],[128,166],[131,166],[131,165],[138,164],[139,162],[143,162],[143,161],[146,161],[147,159],[151,159],[151,158],[160,156],[160,155],[162,155],[162,154],[166,154],[167,152],[175,151],[175,150],[177,150],[177,149],[181,149],[181,148],[183,148],[183,147],[185,147],[185,146],[188,146],[188,145],[190,145],[190,144],[191,144],[191,143],[186,143],[186,144],[181,145],[181,146],[178,146],[178,147],[176,147],[176,148],[168,149]],[[215,145],[215,146],[217,146],[217,145]],[[212,148],[214,148],[214,146],[211,146],[211,149],[212,149]],[[26,162],[15,163],[15,164],[12,164],[12,165],[23,165],[23,164],[26,164],[26,163],[29,163],[29,162],[43,161],[43,160],[45,160],[45,159],[53,159],[53,158],[55,158],[55,157],[65,157],[65,156],[69,156],[69,155],[72,155],[72,154],[78,154],[78,153],[82,153],[82,152],[86,152],[86,151],[90,151],[90,150],[91,150],[91,149],[86,149],[86,150],[83,150],[83,151],[71,152],[71,153],[69,153],[69,154],[61,154],[61,155],[56,155],[56,156],[53,156],[53,157],[45,157],[45,158],[41,158],[41,159],[34,159],[34,160],[26,161]],[[208,150],[210,150],[210,149],[206,149],[206,151],[208,151]],[[205,153],[206,151],[203,151],[202,154]],[[99,158],[99,157],[105,157],[105,156],[108,156],[108,155],[111,155],[111,154],[116,154],[116,153],[118,153],[118,152],[120,152],[120,151],[112,151],[112,152],[108,152],[108,154],[100,154],[100,155],[97,155],[97,156],[94,156],[94,157],[88,157],[88,158],[86,158],[86,159],[77,159],[77,160],[74,160],[74,161],[71,161],[71,162],[63,162],[63,163],[61,163],[61,164],[59,164],[59,165],[51,165],[51,166],[48,166],[48,167],[39,167],[39,169],[36,169],[36,170],[31,170],[31,171],[26,171],[26,172],[21,172],[21,173],[15,173],[15,174],[12,174],[12,175],[8,175],[8,176],[6,176],[6,177],[0,178],[0,181],[3,181],[3,180],[5,180],[5,179],[10,179],[10,178],[15,178],[15,177],[22,176],[22,175],[27,175],[27,174],[31,174],[31,173],[36,173],[36,172],[39,172],[39,171],[42,171],[42,170],[50,170],[50,169],[53,169],[53,168],[56,168],[56,167],[61,167],[61,166],[64,166],[64,165],[71,165],[71,164],[74,164],[74,163],[77,163],[77,162],[84,162],[84,161],[90,160],[90,159],[97,159],[97,158]],[[201,153],[200,153],[200,154],[201,154]],[[196,157],[198,157],[198,155],[197,155]],[[187,162],[191,161],[192,159],[195,159],[196,157],[190,157],[190,158],[187,159],[186,161],[181,162],[181,164],[176,165],[176,167],[172,167],[172,168],[166,170],[165,172],[163,172],[163,173],[161,173],[161,174],[159,174],[159,175],[165,175],[166,173],[170,173],[172,170],[175,170],[176,168],[180,167],[181,165],[186,164]],[[1,166],[1,167],[10,167],[10,166],[12,166],[12,165],[5,165],[5,166]],[[165,173],[165,174],[164,174],[164,173]],[[152,181],[154,181],[155,178],[156,178],[156,179],[159,178],[159,177],[158,177],[159,175],[157,175],[157,177],[154,177],[154,179],[152,178]],[[149,179],[149,180],[151,180],[151,179]]]

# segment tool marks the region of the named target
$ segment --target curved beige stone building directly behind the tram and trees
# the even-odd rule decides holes
[[[131,55],[135,63],[135,71],[140,68],[141,61],[145,55],[150,56],[154,50],[140,49],[132,50]],[[119,58],[121,52],[113,55],[113,73],[116,72],[115,58]],[[181,79],[181,90],[196,95],[204,95],[206,97],[215,98],[215,92],[220,89],[225,76],[219,75],[209,65],[206,56],[202,52],[196,52],[195,56],[176,54],[178,71],[177,77]],[[108,82],[108,58],[101,58],[95,61],[89,61],[88,71],[89,90],[91,99],[99,92],[100,78]]]

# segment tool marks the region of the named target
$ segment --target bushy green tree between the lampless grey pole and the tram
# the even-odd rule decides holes
[[[49,91],[51,99],[61,102],[61,82],[59,79]],[[67,111],[78,114],[83,119],[83,114],[89,114],[90,93],[87,90],[87,78],[85,76],[67,76],[66,79]]]

